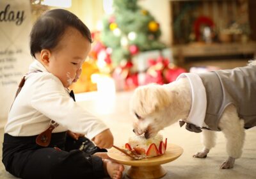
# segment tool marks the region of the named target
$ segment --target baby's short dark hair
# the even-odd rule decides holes
[[[74,27],[92,43],[92,35],[88,27],[74,13],[63,9],[49,10],[36,20],[30,33],[30,53],[42,49],[54,49],[67,27]]]

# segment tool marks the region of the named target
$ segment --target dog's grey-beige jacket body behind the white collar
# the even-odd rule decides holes
[[[218,123],[225,108],[234,104],[244,128],[256,126],[256,66],[198,74],[205,86],[207,109],[205,124],[220,130]]]

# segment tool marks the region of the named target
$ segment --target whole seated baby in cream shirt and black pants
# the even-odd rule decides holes
[[[68,90],[90,52],[90,30],[73,13],[56,9],[36,21],[30,36],[36,60],[4,128],[6,171],[19,178],[122,178],[124,166],[104,153],[113,146],[111,131]]]

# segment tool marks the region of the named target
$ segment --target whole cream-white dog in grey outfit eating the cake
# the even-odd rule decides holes
[[[228,159],[220,168],[234,167],[242,154],[244,128],[256,125],[256,61],[242,68],[216,72],[182,74],[170,84],[138,87],[131,98],[131,111],[136,116],[134,132],[153,137],[179,120],[194,132],[211,129],[203,129],[204,149],[193,155],[205,158],[216,144],[215,130],[221,130],[227,138]],[[223,92],[223,88],[227,90]]]

